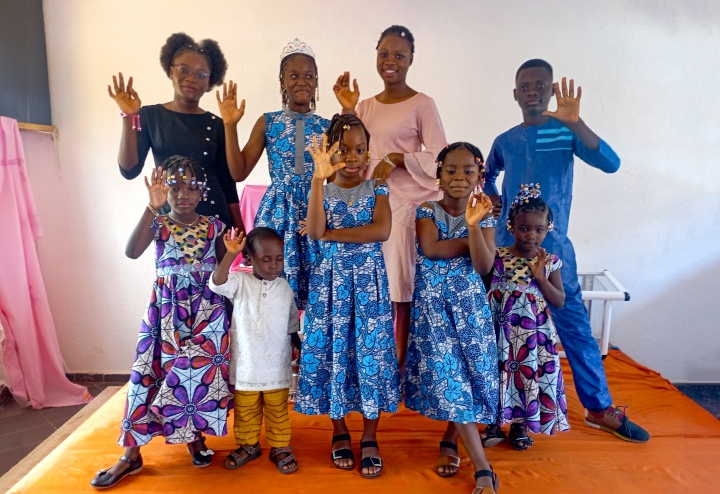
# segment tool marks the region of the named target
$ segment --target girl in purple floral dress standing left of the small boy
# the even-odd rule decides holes
[[[195,212],[207,187],[197,162],[172,156],[145,185],[150,202],[125,253],[137,259],[154,243],[157,277],[130,372],[118,441],[125,453],[98,472],[91,482],[98,489],[142,470],[140,447],[157,435],[168,444],[186,444],[193,466],[209,466],[213,452],[203,433],[225,435],[232,406],[224,301],[208,287],[225,253],[225,225]],[[158,214],[166,202],[170,213]]]

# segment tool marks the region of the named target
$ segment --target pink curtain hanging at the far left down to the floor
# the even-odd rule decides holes
[[[17,121],[0,117],[0,322],[2,356],[15,399],[33,408],[90,400],[65,377],[35,239],[42,227],[25,167]]]

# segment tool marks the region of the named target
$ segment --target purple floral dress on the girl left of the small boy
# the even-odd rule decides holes
[[[186,228],[160,216],[152,228],[157,278],[130,373],[124,447],[160,434],[168,444],[192,442],[199,432],[225,435],[232,408],[225,304],[208,287],[224,225],[200,216]]]

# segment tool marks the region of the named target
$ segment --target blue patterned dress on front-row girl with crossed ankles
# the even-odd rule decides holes
[[[467,238],[464,214],[450,216],[437,202],[420,206],[440,240]],[[493,228],[490,217],[481,228]],[[415,293],[410,319],[405,404],[435,420],[495,421],[497,345],[487,295],[470,254],[431,260],[416,242]]]

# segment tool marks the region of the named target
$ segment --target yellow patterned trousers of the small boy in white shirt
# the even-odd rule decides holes
[[[256,444],[265,417],[265,437],[272,448],[290,445],[288,389],[271,391],[235,391],[235,440],[238,444]]]

